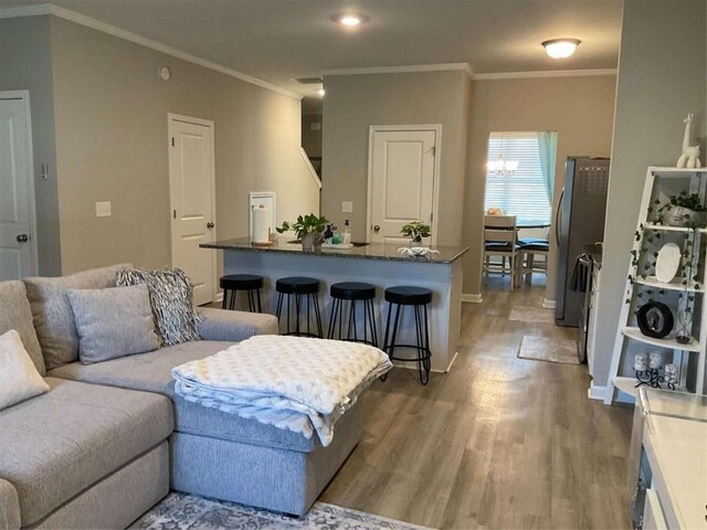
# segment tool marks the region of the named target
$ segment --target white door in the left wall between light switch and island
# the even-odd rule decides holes
[[[199,248],[215,240],[213,121],[169,115],[169,188],[172,266],[194,286],[194,305],[215,297],[215,252]]]

